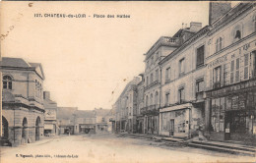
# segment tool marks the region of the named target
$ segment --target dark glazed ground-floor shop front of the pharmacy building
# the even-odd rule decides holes
[[[207,92],[211,139],[255,142],[256,79]]]

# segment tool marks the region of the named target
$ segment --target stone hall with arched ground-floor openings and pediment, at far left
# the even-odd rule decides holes
[[[39,63],[3,57],[3,137],[13,146],[39,140],[43,136],[44,75]]]

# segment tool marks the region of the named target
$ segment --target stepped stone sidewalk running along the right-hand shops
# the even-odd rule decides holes
[[[236,141],[213,141],[213,140],[185,140],[183,137],[170,137],[170,136],[152,136],[140,134],[121,134],[122,136],[129,136],[134,138],[152,139],[155,141],[174,142],[175,145],[186,145],[190,147],[203,148],[207,150],[214,150],[219,152],[227,152],[232,154],[242,154],[249,156],[256,156],[256,147],[244,145]]]

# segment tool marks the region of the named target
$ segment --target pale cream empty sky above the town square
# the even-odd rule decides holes
[[[8,33],[1,40],[2,56],[41,63],[43,89],[52,100],[80,110],[111,109],[128,81],[144,72],[144,54],[160,36],[172,36],[182,23],[207,26],[209,18],[209,2],[5,2],[1,7],[1,34]]]

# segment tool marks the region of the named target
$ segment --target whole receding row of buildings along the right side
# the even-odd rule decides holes
[[[209,26],[161,36],[113,104],[115,132],[216,140],[256,135],[256,4],[210,3]]]

